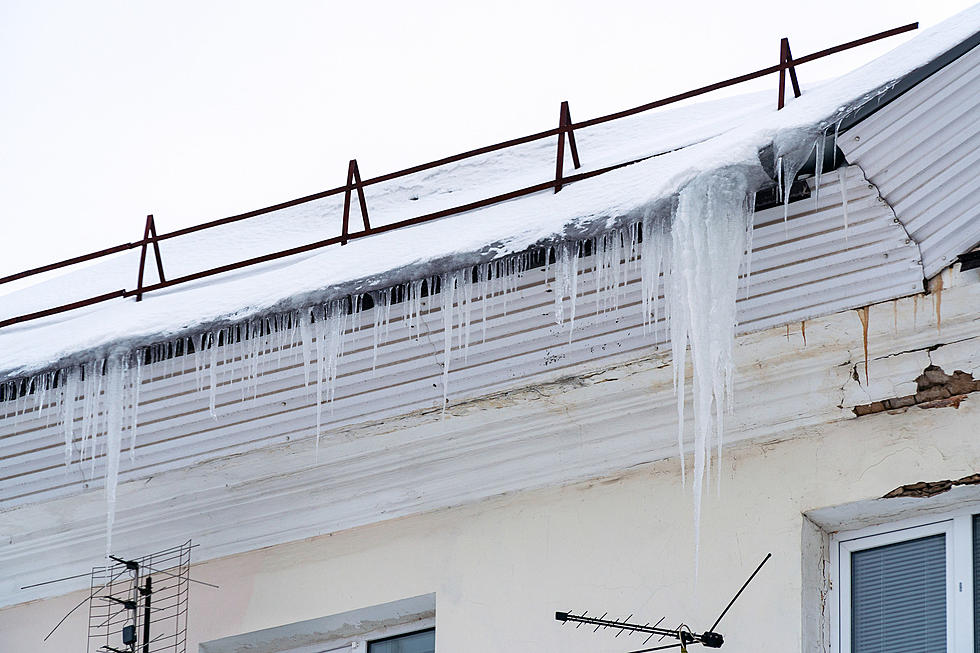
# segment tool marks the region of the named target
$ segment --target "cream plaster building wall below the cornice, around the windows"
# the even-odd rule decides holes
[[[767,552],[773,559],[718,628],[725,650],[802,650],[803,624],[809,640],[817,637],[820,608],[813,600],[819,579],[803,572],[803,536],[809,529],[812,557],[815,528],[807,522],[805,529],[804,513],[865,502],[852,511],[863,525],[891,506],[908,514],[906,503],[890,503],[908,500],[873,501],[895,487],[976,472],[978,400],[733,445],[723,456],[720,494],[713,480],[705,496],[696,582],[690,489],[681,486],[678,462],[664,460],[196,565],[194,577],[221,589],[192,586],[188,650],[434,592],[443,653],[625,651],[641,640],[560,626],[554,612],[665,615],[665,624],[684,620],[703,630]],[[921,501],[928,507],[943,498]],[[84,608],[40,643],[82,598],[76,592],[0,611],[0,650],[82,650]],[[808,641],[806,650],[818,644]]]

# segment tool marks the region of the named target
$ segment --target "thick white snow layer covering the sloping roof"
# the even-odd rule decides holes
[[[442,220],[332,246],[0,329],[0,379],[104,355],[204,325],[389,287],[472,265],[662,210],[695,177],[728,167],[763,179],[760,152],[801,161],[814,138],[897,80],[980,31],[980,6],[926,30],[877,60],[805,88],[777,112],[775,92],[654,111],[576,130],[583,167],[661,154],[601,176]],[[805,68],[803,69],[805,70]],[[805,77],[805,75],[804,75]],[[366,189],[373,226],[458,206],[553,178],[555,138],[474,157]],[[567,165],[566,170],[570,169]],[[356,202],[354,203],[356,206]],[[168,278],[340,232],[333,196],[163,241]],[[352,212],[358,224],[356,208]],[[139,251],[0,297],[0,319],[132,287]],[[147,267],[150,282],[153,266]]]

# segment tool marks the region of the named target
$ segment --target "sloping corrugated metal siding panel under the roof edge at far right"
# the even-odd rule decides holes
[[[980,48],[843,134],[932,277],[980,243]]]

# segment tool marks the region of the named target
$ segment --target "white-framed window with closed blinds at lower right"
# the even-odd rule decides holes
[[[836,535],[836,650],[980,653],[974,636],[974,622],[980,627],[978,517],[953,514]]]

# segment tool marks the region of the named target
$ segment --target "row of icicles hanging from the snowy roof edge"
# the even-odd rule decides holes
[[[817,160],[822,160],[822,140],[817,141]],[[783,163],[780,160],[779,170]],[[842,197],[846,187],[841,174]],[[817,175],[820,175],[819,163]],[[782,176],[782,175],[781,175]],[[779,179],[788,204],[789,187],[795,176]],[[818,181],[819,184],[819,181]],[[442,400],[445,410],[450,386],[453,352],[468,355],[471,325],[479,320],[486,338],[488,308],[494,302],[506,314],[509,295],[519,289],[524,272],[545,268],[545,282],[554,294],[554,319],[566,325],[568,339],[574,336],[576,312],[585,310],[578,289],[581,259],[591,254],[591,288],[595,291],[596,313],[619,307],[632,274],[638,274],[641,308],[648,332],[658,330],[670,342],[677,393],[677,443],[682,476],[685,471],[684,424],[686,365],[688,354],[693,370],[692,401],[694,426],[693,492],[696,541],[700,523],[701,495],[707,478],[712,444],[720,455],[725,415],[732,408],[733,344],[736,327],[735,300],[739,279],[747,282],[751,251],[754,193],[738,174],[702,175],[680,193],[670,220],[649,217],[610,230],[586,241],[570,241],[484,263],[437,277],[317,304],[300,310],[279,312],[244,322],[210,329],[170,342],[113,352],[104,359],[76,364],[28,379],[0,385],[0,416],[14,420],[40,413],[42,407],[57,405],[59,426],[64,436],[66,467],[73,461],[94,477],[95,461],[105,458],[107,500],[107,550],[115,519],[116,486],[119,476],[123,432],[128,431],[129,456],[136,450],[139,393],[144,370],[154,378],[183,373],[178,361],[194,357],[199,391],[207,391],[211,416],[218,417],[216,391],[238,384],[243,401],[260,389],[260,359],[281,358],[284,351],[301,348],[304,381],[315,395],[315,450],[319,454],[324,431],[322,409],[336,398],[339,363],[345,338],[370,328],[373,336],[373,366],[378,347],[388,342],[392,307],[402,304],[403,325],[418,339],[423,332],[421,316],[425,296],[428,311],[441,311],[443,346]],[[846,216],[846,206],[845,206]],[[846,217],[845,217],[846,222]],[[553,263],[551,263],[553,259]],[[550,268],[550,269],[549,269]],[[373,304],[373,320],[363,320],[365,298]],[[482,315],[474,315],[479,302]],[[395,318],[397,319],[397,318]],[[454,335],[455,334],[455,335]],[[455,341],[455,343],[454,343]],[[186,360],[186,359],[185,359]],[[311,377],[312,380],[311,380]],[[101,438],[99,437],[101,435]],[[719,469],[720,482],[720,469]]]

